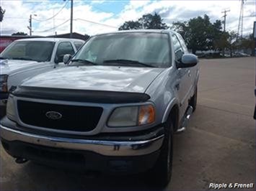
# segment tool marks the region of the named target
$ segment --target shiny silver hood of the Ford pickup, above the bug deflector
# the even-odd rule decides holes
[[[144,93],[163,68],[67,66],[37,75],[22,86]]]

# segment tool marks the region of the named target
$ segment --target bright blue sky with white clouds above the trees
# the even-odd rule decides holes
[[[25,32],[29,34],[28,19],[32,14],[32,34],[63,34],[70,31],[70,1],[52,0],[1,0],[6,10],[1,22],[1,34]],[[226,30],[237,32],[241,1],[78,1],[74,0],[73,32],[98,34],[118,30],[125,21],[136,20],[143,14],[160,14],[164,22],[186,21],[208,14],[211,22],[223,20],[224,9],[230,9],[226,17]],[[37,16],[35,16],[36,14]],[[57,14],[57,15],[56,15]],[[53,17],[56,15],[56,17]],[[53,18],[52,18],[53,17]],[[244,34],[252,33],[255,21],[255,0],[244,3]]]

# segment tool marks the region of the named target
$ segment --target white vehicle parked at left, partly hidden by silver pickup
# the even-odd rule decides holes
[[[0,106],[5,113],[12,86],[20,85],[34,75],[63,66],[63,55],[74,53],[84,44],[81,39],[32,38],[19,39],[0,54]]]

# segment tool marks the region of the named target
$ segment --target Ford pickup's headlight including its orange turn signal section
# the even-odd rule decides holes
[[[142,126],[146,124],[151,124],[154,122],[154,120],[154,106],[127,106],[115,108],[109,120],[107,121],[107,126]]]

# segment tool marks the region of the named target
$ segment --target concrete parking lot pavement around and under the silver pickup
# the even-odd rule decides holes
[[[198,108],[187,130],[175,135],[172,180],[165,190],[256,182],[254,88],[255,57],[200,60]],[[0,190],[151,189],[137,175],[91,177],[31,162],[16,164],[2,147],[0,158]]]

